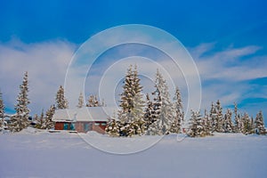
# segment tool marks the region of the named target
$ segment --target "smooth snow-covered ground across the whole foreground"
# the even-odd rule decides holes
[[[160,137],[151,137],[131,140],[34,130],[2,134],[0,177],[267,177],[267,136],[216,134],[182,142],[176,135],[159,142]],[[117,153],[157,143],[117,155],[88,142]]]

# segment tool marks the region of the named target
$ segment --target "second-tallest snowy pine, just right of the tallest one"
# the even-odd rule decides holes
[[[166,80],[157,69],[155,80],[156,95],[154,110],[156,121],[150,125],[147,134],[168,134],[174,120],[173,104],[170,101],[170,94],[166,85]]]

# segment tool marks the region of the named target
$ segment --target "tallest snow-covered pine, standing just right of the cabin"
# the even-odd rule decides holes
[[[125,75],[125,81],[123,86],[123,93],[121,93],[120,109],[118,110],[117,117],[121,121],[123,127],[120,128],[122,133],[133,132],[130,131],[130,124],[139,125],[137,130],[144,132],[144,101],[142,100],[142,85],[140,84],[140,78],[138,77],[137,67],[130,65]],[[133,130],[133,128],[132,128]],[[139,131],[135,130],[134,134],[138,134]],[[125,134],[128,136],[129,134]]]

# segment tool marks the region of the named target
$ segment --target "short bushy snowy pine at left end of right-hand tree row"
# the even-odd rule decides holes
[[[205,126],[203,125],[203,118],[199,112],[191,110],[190,117],[190,137],[206,136]]]

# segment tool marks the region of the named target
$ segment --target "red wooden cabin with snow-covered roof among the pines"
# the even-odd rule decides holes
[[[108,110],[101,107],[58,109],[52,118],[54,129],[77,131],[78,133],[96,131],[104,134],[110,117]]]

